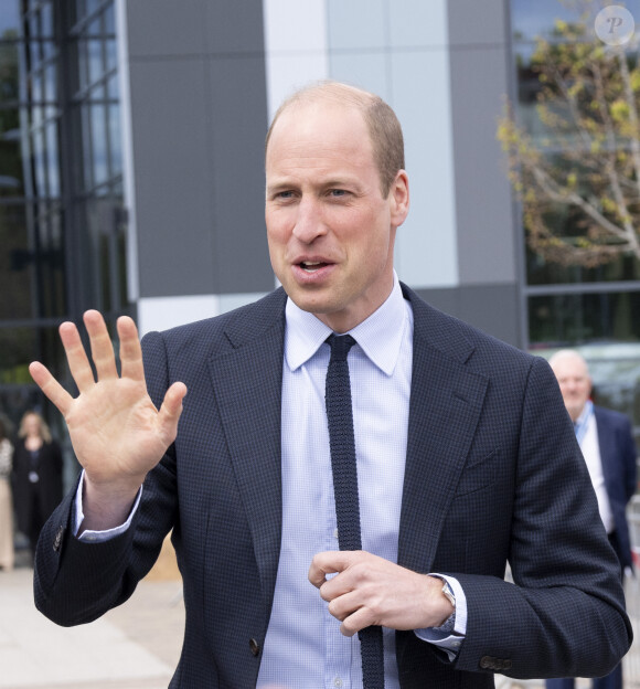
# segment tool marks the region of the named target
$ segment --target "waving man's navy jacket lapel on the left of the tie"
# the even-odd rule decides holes
[[[280,300],[284,307],[284,299]],[[237,486],[270,610],[281,531],[280,398],[284,310],[259,337],[226,332],[233,349],[212,357],[210,372]]]

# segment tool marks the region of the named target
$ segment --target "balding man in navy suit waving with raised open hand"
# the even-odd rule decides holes
[[[399,283],[408,205],[393,110],[314,85],[267,135],[281,288],[142,347],[120,318],[120,375],[88,311],[97,380],[61,326],[78,396],[30,370],[84,475],[40,540],[45,615],[82,624],[124,602],[173,529],[186,628],[172,687],[367,687],[355,633],[370,626],[386,689],[619,661],[617,562],[553,373]],[[328,336],[346,332],[362,549],[341,551],[324,375]]]

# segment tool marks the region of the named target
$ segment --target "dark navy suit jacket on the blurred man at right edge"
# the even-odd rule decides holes
[[[616,529],[615,548],[622,568],[632,568],[627,504],[636,492],[636,444],[625,414],[594,405],[598,445]]]

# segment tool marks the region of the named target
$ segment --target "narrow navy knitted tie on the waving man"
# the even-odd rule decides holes
[[[346,354],[355,344],[350,335],[330,335],[331,359],[327,370],[324,403],[329,422],[329,445],[333,469],[333,492],[338,518],[340,550],[362,550],[360,537],[360,505],[358,499],[358,468],[351,411],[351,384]],[[364,689],[384,688],[384,656],[382,628],[366,627],[358,633],[362,654]]]

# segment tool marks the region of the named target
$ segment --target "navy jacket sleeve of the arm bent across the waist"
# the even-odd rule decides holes
[[[526,380],[516,462],[514,583],[452,573],[468,605],[456,669],[522,678],[606,675],[632,638],[619,565],[557,384],[540,359]]]

